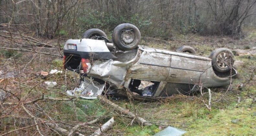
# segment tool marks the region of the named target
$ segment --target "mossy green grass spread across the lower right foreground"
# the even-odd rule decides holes
[[[185,135],[254,135],[255,134],[255,104],[252,99],[242,99],[241,103],[233,101],[226,104],[227,108],[214,108],[209,111],[196,100],[170,100],[159,105],[158,102],[148,105],[138,104],[138,113],[149,120],[164,121],[164,124],[186,130]],[[237,122],[232,123],[232,121]],[[131,120],[130,120],[131,121]],[[128,126],[130,122],[117,124],[114,129],[120,129],[131,135],[154,135],[159,130],[158,125],[141,127],[139,124]],[[161,125],[160,125],[161,126]]]

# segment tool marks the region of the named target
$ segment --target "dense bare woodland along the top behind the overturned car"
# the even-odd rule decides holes
[[[165,40],[176,33],[234,36],[256,25],[256,0],[0,0],[0,5],[0,23],[50,39],[77,38],[89,28],[111,33],[121,23]]]

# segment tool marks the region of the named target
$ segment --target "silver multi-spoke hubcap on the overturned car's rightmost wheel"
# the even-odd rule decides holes
[[[230,55],[229,53],[227,52],[221,52],[218,56],[217,56],[217,65],[220,67],[220,68],[228,68],[228,66],[230,64],[228,64],[228,59],[230,58]]]

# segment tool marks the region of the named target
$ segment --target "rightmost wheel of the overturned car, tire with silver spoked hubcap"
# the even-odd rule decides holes
[[[214,50],[211,53],[210,58],[212,59],[214,70],[221,73],[229,71],[233,67],[235,61],[232,51],[226,48]]]

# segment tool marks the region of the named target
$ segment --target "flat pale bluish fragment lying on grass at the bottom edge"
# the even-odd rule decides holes
[[[187,131],[168,126],[166,129],[156,133],[154,136],[181,136]]]

